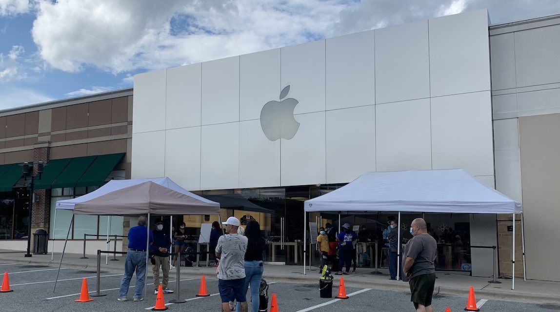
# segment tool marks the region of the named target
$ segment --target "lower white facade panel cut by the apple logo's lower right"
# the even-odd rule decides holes
[[[295,115],[300,129],[281,139],[281,185],[324,184],[325,112]]]

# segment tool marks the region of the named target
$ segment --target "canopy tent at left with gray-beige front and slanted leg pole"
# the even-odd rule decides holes
[[[62,258],[64,257],[64,250],[66,250],[74,215],[147,215],[148,227],[150,226],[150,217],[153,215],[220,215],[220,203],[193,194],[181,188],[169,178],[112,180],[94,192],[81,197],[57,201],[55,208],[72,210],[73,212],[66,241],[64,241],[62,256],[60,257],[59,269],[62,266]],[[149,234],[148,231],[146,233],[146,250],[150,249]],[[148,253],[146,253],[146,271],[148,269],[147,264]]]

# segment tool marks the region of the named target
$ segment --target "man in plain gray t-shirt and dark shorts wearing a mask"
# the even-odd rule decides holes
[[[410,301],[417,312],[432,312],[432,294],[436,283],[437,243],[428,234],[426,221],[416,218],[410,223],[413,235],[404,247],[403,273],[409,278]]]

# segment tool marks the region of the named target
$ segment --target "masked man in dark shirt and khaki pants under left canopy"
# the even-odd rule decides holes
[[[167,288],[169,285],[169,255],[167,255],[167,250],[171,248],[171,239],[169,238],[169,232],[164,231],[164,221],[157,219],[155,224],[156,230],[153,231],[153,244],[151,247],[152,257],[155,260],[152,266],[153,287],[155,287],[153,293],[157,295],[157,288],[160,286],[161,267],[161,272],[164,274],[161,286],[164,294],[171,294],[173,291]]]

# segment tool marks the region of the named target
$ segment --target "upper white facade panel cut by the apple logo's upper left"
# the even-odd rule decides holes
[[[241,55],[239,80],[239,118],[260,118],[268,101],[279,100],[280,49]]]

